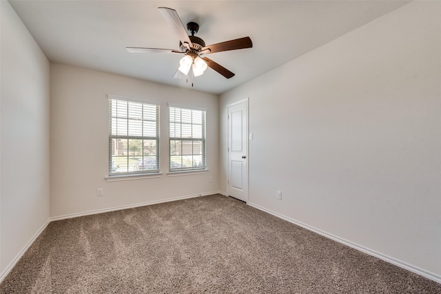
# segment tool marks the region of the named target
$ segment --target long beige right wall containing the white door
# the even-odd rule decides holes
[[[441,281],[440,15],[409,3],[221,95],[220,189],[249,97],[250,203]]]

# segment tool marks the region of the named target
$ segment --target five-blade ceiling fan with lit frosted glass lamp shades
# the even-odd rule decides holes
[[[222,65],[215,63],[211,59],[205,57],[206,54],[214,52],[222,52],[229,50],[238,50],[245,48],[252,48],[253,43],[249,36],[244,38],[216,43],[213,45],[205,45],[203,39],[194,36],[199,30],[199,25],[194,22],[187,23],[187,29],[192,34],[189,36],[179,19],[178,13],[172,8],[159,7],[159,12],[163,14],[165,20],[172,25],[174,31],[179,36],[179,50],[172,49],[159,49],[159,48],[136,48],[126,47],[128,52],[131,53],[175,53],[183,54],[183,58],[179,62],[178,70],[174,74],[174,78],[183,78],[187,76],[190,67],[193,69],[194,76],[201,76],[207,67],[211,67],[213,70],[225,76],[225,78],[232,78],[233,72],[230,72]]]

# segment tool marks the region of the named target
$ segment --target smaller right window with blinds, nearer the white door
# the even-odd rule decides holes
[[[205,109],[169,105],[170,171],[205,169]]]

